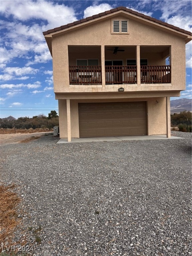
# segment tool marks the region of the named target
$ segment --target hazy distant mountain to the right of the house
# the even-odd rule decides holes
[[[187,110],[192,111],[192,99],[178,99],[171,100],[171,114],[180,113],[181,111]]]

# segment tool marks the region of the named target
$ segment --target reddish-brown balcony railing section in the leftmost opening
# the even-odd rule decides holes
[[[69,66],[70,84],[101,84],[101,66]]]

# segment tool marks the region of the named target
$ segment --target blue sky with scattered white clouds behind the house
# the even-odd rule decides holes
[[[191,1],[31,1],[0,0],[0,118],[58,112],[52,57],[43,31],[124,6],[192,31]],[[186,44],[186,90],[191,98],[192,43]]]

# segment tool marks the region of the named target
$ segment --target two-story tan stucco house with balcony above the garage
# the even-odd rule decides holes
[[[170,97],[185,90],[191,32],[118,7],[43,34],[60,138],[170,137]]]

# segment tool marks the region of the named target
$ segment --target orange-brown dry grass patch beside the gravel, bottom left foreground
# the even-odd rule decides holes
[[[20,223],[17,213],[17,205],[21,199],[13,189],[14,184],[9,186],[0,185],[0,244],[12,245],[13,232]],[[0,252],[2,247],[0,247]]]

